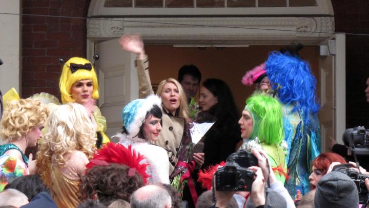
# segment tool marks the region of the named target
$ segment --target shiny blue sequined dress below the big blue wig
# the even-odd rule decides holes
[[[294,104],[283,105],[284,140],[288,143],[287,168],[289,180],[284,186],[292,198],[296,191],[302,194],[310,191],[309,175],[311,163],[321,152],[320,123],[316,114],[310,114],[304,121],[302,110],[295,110]]]

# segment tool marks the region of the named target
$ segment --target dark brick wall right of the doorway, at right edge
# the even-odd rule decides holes
[[[369,1],[332,0],[336,32],[369,34]],[[346,36],[346,127],[369,128],[365,81],[369,77],[369,36]]]

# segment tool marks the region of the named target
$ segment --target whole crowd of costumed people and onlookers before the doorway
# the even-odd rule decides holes
[[[316,80],[301,56],[272,51],[245,73],[242,83],[256,89],[239,110],[227,83],[200,85],[194,65],[161,81],[155,94],[140,36],[119,44],[137,55],[139,99],[121,111],[118,143],[105,135],[86,59],[63,63],[63,104],[1,98],[0,207],[359,207],[353,180],[334,171],[346,160],[321,153]],[[36,156],[26,156],[37,144]],[[257,165],[242,166],[241,158],[232,175],[222,167],[240,152]],[[237,186],[245,168],[251,187]],[[220,169],[235,177],[222,178]]]

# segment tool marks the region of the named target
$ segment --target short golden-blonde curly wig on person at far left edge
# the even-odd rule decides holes
[[[39,100],[20,99],[9,102],[0,121],[0,137],[8,141],[21,139],[32,128],[44,125],[48,116],[49,110]]]

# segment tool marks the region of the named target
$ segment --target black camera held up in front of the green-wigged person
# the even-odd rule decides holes
[[[251,191],[255,180],[255,172],[239,166],[235,162],[226,162],[215,172],[217,191]]]

